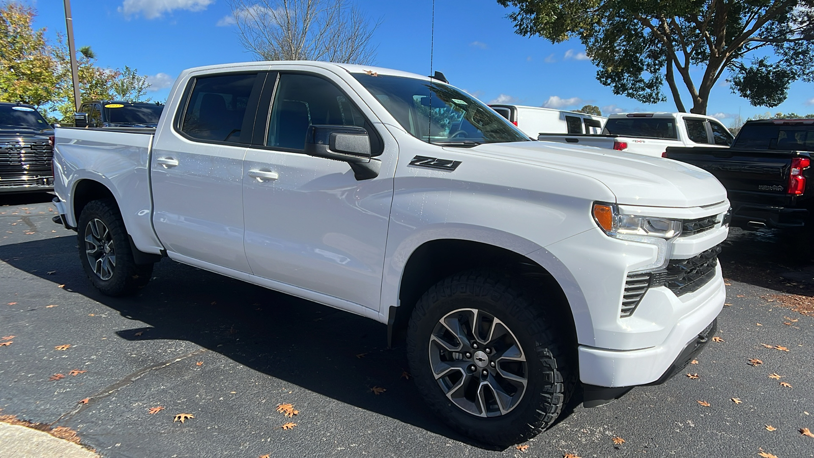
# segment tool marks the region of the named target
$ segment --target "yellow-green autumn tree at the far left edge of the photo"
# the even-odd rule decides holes
[[[0,4],[0,101],[35,107],[55,98],[57,65],[45,39],[46,29],[31,27],[33,8]]]

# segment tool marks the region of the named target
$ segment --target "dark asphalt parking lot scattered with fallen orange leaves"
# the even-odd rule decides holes
[[[102,296],[54,212],[46,194],[0,196],[0,416],[69,427],[102,456],[814,456],[814,267],[772,231],[724,242],[722,341],[697,378],[575,399],[521,451],[435,419],[370,319],[168,260],[138,296]]]

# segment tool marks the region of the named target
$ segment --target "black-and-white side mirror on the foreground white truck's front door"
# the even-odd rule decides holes
[[[309,126],[305,154],[348,162],[357,180],[379,176],[382,161],[370,156],[370,136],[356,126]]]

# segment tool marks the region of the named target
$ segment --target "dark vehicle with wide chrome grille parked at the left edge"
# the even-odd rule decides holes
[[[53,126],[32,105],[0,103],[0,192],[54,188]]]

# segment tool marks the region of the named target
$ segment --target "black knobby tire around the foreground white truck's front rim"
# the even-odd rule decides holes
[[[435,414],[454,429],[481,443],[505,447],[521,443],[540,434],[543,429],[554,423],[574,390],[577,372],[573,348],[575,344],[566,332],[563,332],[562,335],[559,332],[560,329],[568,327],[555,318],[559,314],[551,310],[550,305],[540,303],[540,298],[544,296],[532,293],[532,291],[533,288],[523,288],[519,281],[513,280],[501,272],[466,271],[452,275],[427,290],[427,293],[424,293],[418,301],[410,319],[407,334],[407,357],[418,390]],[[480,310],[480,313],[469,314],[469,312],[461,312],[462,309]],[[453,311],[455,314],[451,314]],[[456,315],[459,313],[460,315]],[[481,315],[480,318],[479,315]],[[471,319],[472,316],[475,318]],[[492,324],[488,324],[490,316]],[[453,394],[453,398],[456,398],[454,401],[453,398],[447,397],[444,390],[453,393],[456,389],[454,387],[448,389],[450,381],[446,380],[447,377],[438,378],[438,380],[443,379],[443,383],[436,381],[433,369],[444,367],[438,366],[438,364],[444,364],[438,363],[438,358],[444,359],[446,350],[437,343],[437,339],[432,343],[430,341],[431,337],[439,335],[438,332],[446,332],[444,328],[449,330],[450,326],[443,324],[441,325],[444,328],[437,327],[441,319],[447,320],[446,323],[466,323],[466,320],[469,319],[472,322],[486,323],[486,328],[484,328],[484,324],[480,324],[479,329],[496,329],[494,323],[500,321],[510,331],[505,336],[510,334],[510,337],[519,343],[523,350],[523,358],[525,358],[523,370],[514,369],[514,375],[525,373],[527,380],[525,390],[519,400],[514,403],[514,407],[505,411],[503,404],[497,403],[497,390],[492,389],[492,385],[499,384],[491,382],[488,389],[484,390],[485,394],[482,397],[475,395],[473,406],[481,412],[479,414],[466,412],[465,407],[459,407],[459,405],[466,405],[466,399],[462,399],[460,393],[471,393],[471,390],[457,390]],[[456,319],[457,321],[455,321]],[[466,326],[461,326],[461,328],[466,328]],[[487,330],[486,332],[492,331]],[[446,341],[449,343],[449,336],[453,336],[453,333],[445,334],[445,336],[448,336],[444,339],[447,339]],[[456,340],[461,341],[462,339]],[[458,353],[458,355],[463,355],[463,359],[466,359],[466,355],[475,351],[471,344],[477,344],[477,342],[463,344],[463,350],[469,351]],[[474,381],[476,390],[481,390],[480,385],[483,385],[484,381],[497,381],[495,379],[500,378],[497,377],[500,374],[494,374],[494,378],[490,379],[489,377],[492,376],[488,376],[484,370],[489,370],[489,366],[495,361],[497,361],[498,368],[505,364],[505,361],[501,363],[499,344],[493,344],[494,350],[488,348],[491,344],[486,345],[484,347],[481,344],[474,348],[491,351],[492,359],[486,358],[488,363],[482,359],[477,362],[488,364],[487,366],[478,367],[471,364],[466,369],[469,371],[470,368],[475,368],[475,372],[455,369],[461,371],[461,374],[471,373],[469,377]],[[434,355],[432,362],[431,348]],[[484,351],[478,352],[480,357],[483,357]],[[451,352],[446,351],[446,353]],[[436,357],[436,354],[441,356]],[[449,361],[449,364],[460,364],[458,361],[451,361],[449,355],[446,358],[448,358],[446,360]],[[476,363],[474,359],[470,359],[472,363]],[[491,370],[495,372],[497,369]],[[453,374],[454,377],[449,377],[452,379],[459,377],[454,375],[454,371],[446,373]],[[466,381],[466,375],[460,377],[465,380],[461,382],[461,385],[454,386],[470,383]],[[442,388],[442,385],[446,388]],[[520,388],[517,388],[514,396],[517,396],[519,391]],[[490,392],[492,393],[490,397],[492,404],[481,402],[479,406],[476,405],[478,399],[486,399]],[[480,392],[478,391],[478,393]],[[483,407],[490,405],[492,412],[488,408],[484,412]],[[495,408],[498,409],[497,412],[494,411]],[[484,415],[484,413],[488,416],[477,416]]]

